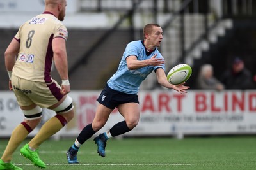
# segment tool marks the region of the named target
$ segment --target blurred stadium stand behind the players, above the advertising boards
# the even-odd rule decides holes
[[[15,11],[6,13],[3,10],[5,9],[3,8],[4,2],[9,1],[4,0],[0,3],[0,52],[2,56],[17,31],[17,27],[13,27],[15,21],[12,23],[12,20],[8,20],[7,24],[6,20],[1,22],[4,15],[10,18],[11,13],[13,15]],[[116,62],[119,62],[125,44],[132,39],[141,39],[141,29],[148,22],[157,22],[164,29],[161,53],[166,59],[166,67],[172,67],[179,62],[190,64],[193,66],[190,80],[196,76],[200,64],[212,62],[214,67],[218,67],[220,59],[222,63],[228,62],[234,53],[239,53],[244,49],[240,48],[241,50],[236,52],[233,49],[236,45],[232,45],[238,41],[238,38],[245,39],[238,35],[246,32],[241,31],[244,20],[242,23],[239,18],[247,18],[246,24],[251,29],[246,32],[246,35],[244,34],[246,38],[252,37],[250,36],[253,34],[252,29],[255,28],[253,22],[250,22],[255,16],[255,2],[246,0],[122,0],[122,3],[120,0],[68,1],[68,3],[71,2],[77,5],[71,5],[73,8],[72,11],[68,11],[70,17],[68,18],[67,14],[65,25],[69,31],[67,52],[70,81],[74,90],[103,88],[104,82],[115,72]],[[19,13],[22,16],[26,15],[27,18],[34,15],[31,11],[19,11]],[[250,46],[254,45],[253,40],[249,43]],[[227,45],[229,48],[226,48]],[[231,53],[223,49],[230,51],[233,49],[233,51]],[[237,46],[236,50],[239,50]],[[256,73],[255,68],[251,66],[255,52],[253,48],[250,48],[248,52],[250,53],[241,53],[241,55],[245,55],[248,67]],[[228,55],[227,60],[224,60],[223,55]],[[0,89],[8,90],[8,76],[4,60],[0,60],[0,66]],[[227,67],[227,64],[223,64],[223,67]],[[216,71],[216,74],[220,73]],[[58,80],[56,73],[53,73],[53,76]],[[148,78],[141,88],[151,89],[152,86],[147,86],[148,81],[152,81],[152,78]],[[193,88],[193,82],[188,83]]]

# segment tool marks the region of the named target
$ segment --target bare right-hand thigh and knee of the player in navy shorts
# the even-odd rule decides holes
[[[140,104],[138,103],[124,103],[117,106],[119,113],[125,118],[127,122],[138,123],[140,119]]]

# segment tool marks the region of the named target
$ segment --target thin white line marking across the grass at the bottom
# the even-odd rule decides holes
[[[17,166],[34,166],[33,164],[15,164]],[[152,163],[152,164],[46,164],[47,166],[191,166],[182,163]]]

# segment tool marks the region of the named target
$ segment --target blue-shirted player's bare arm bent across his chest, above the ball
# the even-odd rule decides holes
[[[150,59],[147,60],[137,60],[137,57],[135,55],[131,55],[127,57],[127,67],[128,69],[140,69],[142,67],[146,66],[161,66],[161,64],[164,64],[163,59],[156,58],[157,54],[153,55]]]

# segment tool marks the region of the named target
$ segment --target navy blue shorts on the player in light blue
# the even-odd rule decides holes
[[[123,103],[139,103],[137,94],[126,94],[111,89],[108,85],[102,90],[97,101],[107,108],[115,109],[116,106]]]

